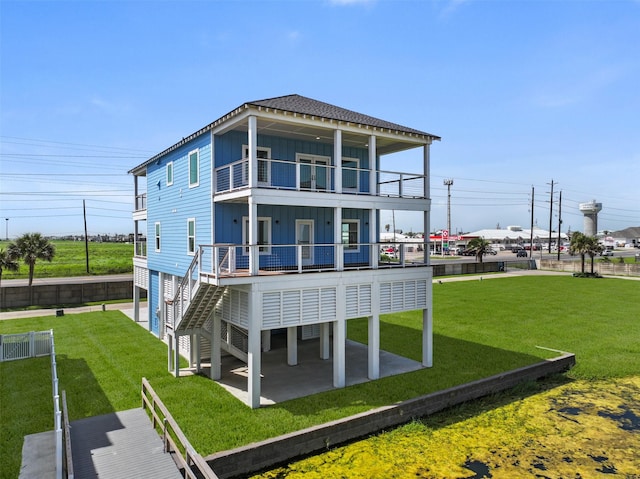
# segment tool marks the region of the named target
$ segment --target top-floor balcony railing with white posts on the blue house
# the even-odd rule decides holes
[[[335,193],[336,167],[324,163],[258,159],[257,186],[295,191]],[[376,175],[376,191],[371,192],[371,175]],[[395,171],[373,171],[342,167],[342,192],[351,194],[424,198],[425,176]],[[249,186],[249,160],[238,160],[216,168],[216,193]]]

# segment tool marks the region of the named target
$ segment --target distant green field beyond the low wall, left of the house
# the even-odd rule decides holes
[[[120,274],[133,271],[133,244],[89,243],[89,273],[87,273],[87,253],[83,241],[51,241],[56,248],[53,261],[37,261],[34,278],[58,278],[84,276],[87,274]],[[8,241],[0,241],[0,248],[6,249]],[[20,261],[16,272],[2,271],[2,279],[22,279],[29,277],[29,267]]]

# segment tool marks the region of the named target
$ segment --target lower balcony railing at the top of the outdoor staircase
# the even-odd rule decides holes
[[[425,266],[421,241],[395,245],[201,245],[198,256],[199,274],[211,278]]]

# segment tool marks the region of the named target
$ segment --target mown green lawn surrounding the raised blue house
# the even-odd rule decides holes
[[[571,377],[640,374],[638,281],[538,276],[433,289],[433,368],[258,410],[203,377],[175,379],[166,371],[166,346],[119,312],[1,321],[0,333],[54,329],[72,420],[139,407],[140,380],[147,377],[203,455],[553,355],[536,346],[576,353]],[[420,359],[421,314],[382,319],[382,348]],[[350,321],[348,334],[365,342],[366,321]],[[52,429],[48,359],[0,363],[0,379],[0,477],[9,478],[17,476],[22,437]]]

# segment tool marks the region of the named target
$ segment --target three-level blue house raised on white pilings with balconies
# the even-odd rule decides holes
[[[179,355],[198,369],[209,358],[219,379],[232,354],[247,365],[248,405],[259,407],[261,353],[286,334],[291,365],[300,341],[319,338],[340,388],[346,322],[369,319],[376,379],[380,315],[416,309],[431,366],[428,235],[381,243],[380,223],[381,211],[420,212],[430,230],[430,145],[439,139],[288,95],[244,103],[133,168],[135,314],[146,290],[169,370],[179,375]],[[421,171],[381,169],[408,150]]]

